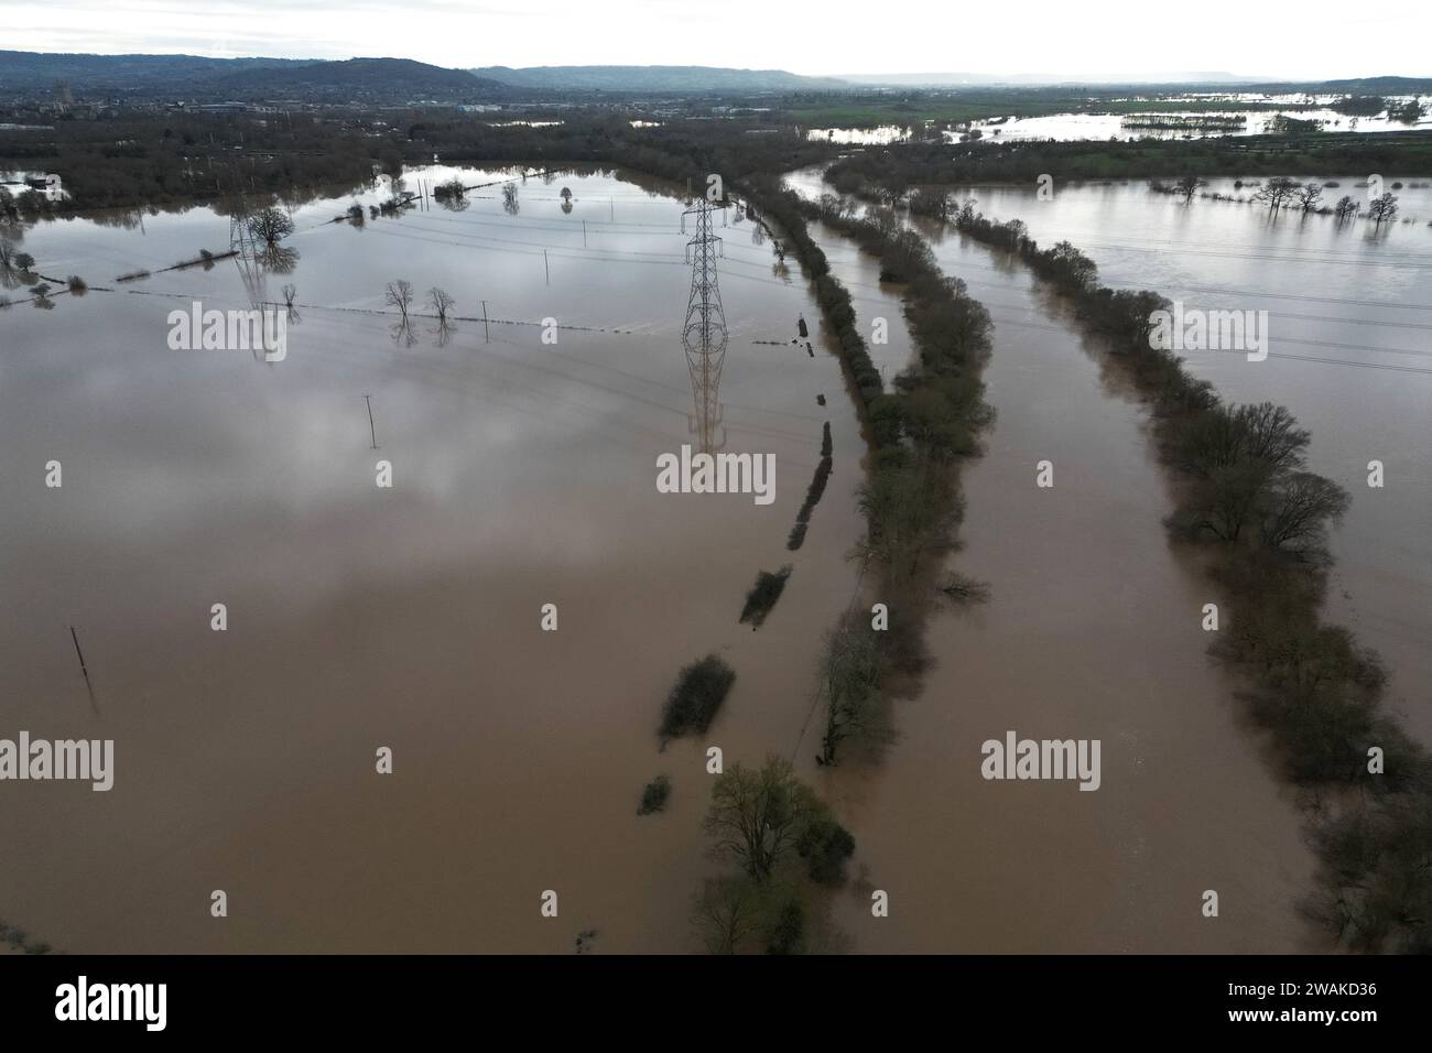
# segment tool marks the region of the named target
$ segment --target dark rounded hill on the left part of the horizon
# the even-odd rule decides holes
[[[511,95],[495,80],[412,59],[348,59],[286,69],[248,69],[206,83],[226,99],[294,97],[312,102],[473,102]]]

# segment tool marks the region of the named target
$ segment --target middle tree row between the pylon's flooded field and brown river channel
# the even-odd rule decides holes
[[[772,181],[756,199],[795,245],[835,332],[848,378],[863,407],[874,457],[858,493],[866,520],[856,556],[875,566],[872,590],[884,613],[848,612],[828,633],[821,659],[825,711],[822,764],[853,746],[878,749],[894,734],[891,701],[908,693],[928,665],[924,625],[941,596],[977,599],[978,587],[944,589],[937,580],[955,547],[964,503],[959,464],[979,453],[979,431],[994,420],[979,380],[990,355],[990,314],[964,282],[947,278],[934,254],[894,212],[855,218],[833,196],[803,202]],[[916,362],[886,391],[856,325],[849,292],[831,274],[808,221],[855,241],[881,261],[881,279],[905,285],[905,321]],[[884,623],[875,625],[884,617]]]

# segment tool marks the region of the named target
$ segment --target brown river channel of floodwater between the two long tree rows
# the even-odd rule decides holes
[[[821,191],[811,170],[788,182]],[[898,289],[874,258],[816,231],[862,321],[888,312]],[[1213,596],[1166,542],[1144,411],[1022,266],[924,232],[947,274],[1000,305],[998,421],[964,470],[949,560],[992,597],[931,620],[937,666],[896,703],[885,762],[823,779],[865,868],[841,924],[872,951],[1319,950],[1296,914],[1313,867],[1302,814],[1204,653]],[[985,781],[981,744],[1008,731],[1098,739],[1101,787]],[[872,888],[888,918],[871,917]],[[1209,890],[1217,918],[1200,911]]]

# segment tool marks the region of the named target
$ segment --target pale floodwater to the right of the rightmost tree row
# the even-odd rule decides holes
[[[1299,178],[1339,183],[1325,189],[1330,201],[1369,193],[1358,186],[1366,175]],[[1214,193],[1256,192],[1211,183]],[[1055,182],[1053,201],[1032,185],[958,193],[985,215],[1022,219],[1042,245],[1071,241],[1106,284],[1151,288],[1186,309],[1267,311],[1266,361],[1190,351],[1187,364],[1226,400],[1282,403],[1312,431],[1309,464],[1352,494],[1330,539],[1326,613],[1382,655],[1388,705],[1432,744],[1432,188],[1395,172],[1383,173],[1383,186],[1400,212],[1380,229],[1365,219],[1270,216],[1256,203],[1186,206],[1137,181]],[[1011,314],[1007,299],[992,292],[987,301],[997,322],[1021,318],[1018,301],[1010,299]],[[1380,489],[1368,484],[1373,460],[1383,464]]]

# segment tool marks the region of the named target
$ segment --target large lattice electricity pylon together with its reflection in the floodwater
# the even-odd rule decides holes
[[[683,234],[687,216],[696,216],[696,236],[686,244],[686,259],[692,265],[692,295],[686,305],[686,324],[682,327],[682,347],[686,348],[692,398],[696,404],[696,413],[689,414],[687,421],[699,451],[715,453],[726,446],[726,428],[717,401],[720,368],[726,361],[726,312],[720,305],[720,287],[716,281],[716,259],[722,255],[722,242],[712,234],[710,202],[702,201],[682,213]]]

